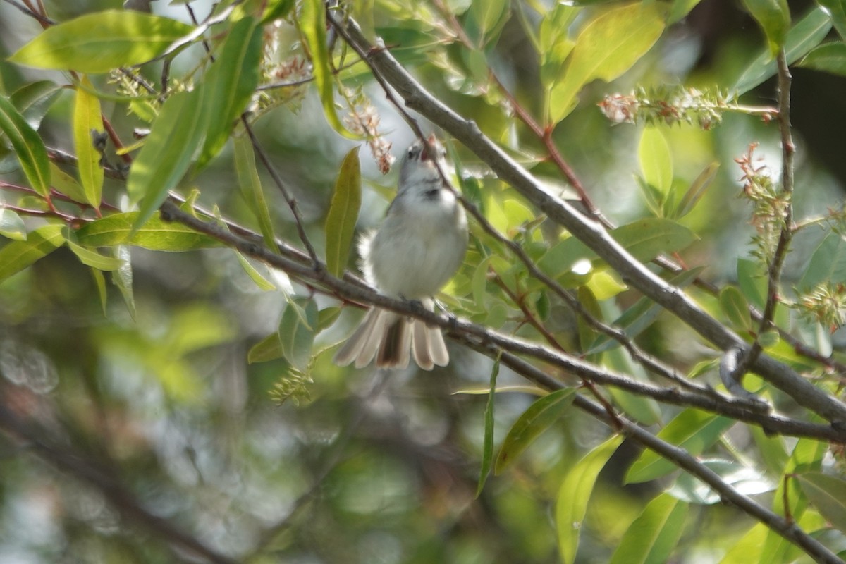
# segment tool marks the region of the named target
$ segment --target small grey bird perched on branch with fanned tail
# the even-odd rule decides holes
[[[445,167],[445,156],[434,135],[428,146],[418,140],[409,147],[385,220],[359,243],[368,282],[388,296],[419,301],[426,309],[432,309],[432,296],[458,270],[467,250],[464,208],[437,171],[436,162]],[[379,368],[405,368],[411,354],[423,370],[449,362],[438,327],[374,308],[334,360],[362,368],[376,357]]]

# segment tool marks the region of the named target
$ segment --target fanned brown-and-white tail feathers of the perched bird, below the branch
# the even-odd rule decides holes
[[[409,365],[412,354],[423,370],[449,363],[440,329],[393,311],[374,308],[335,354],[334,362],[339,366],[354,362],[356,368],[362,368],[376,357],[378,368],[403,369]]]

